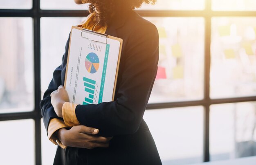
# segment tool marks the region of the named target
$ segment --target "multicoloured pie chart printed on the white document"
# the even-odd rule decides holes
[[[85,58],[85,68],[89,73],[96,73],[99,69],[99,57],[95,53],[89,53]]]

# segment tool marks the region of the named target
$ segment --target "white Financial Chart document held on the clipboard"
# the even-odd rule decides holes
[[[112,101],[117,79],[120,41],[72,28],[65,89],[70,103]]]

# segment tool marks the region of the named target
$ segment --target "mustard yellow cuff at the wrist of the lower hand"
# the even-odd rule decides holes
[[[52,143],[54,143],[55,145],[59,145],[61,146],[61,148],[65,149],[67,146],[63,145],[58,137],[56,137],[54,134],[57,130],[61,128],[67,128],[67,125],[65,125],[64,121],[53,118],[49,122],[47,133],[48,138]]]

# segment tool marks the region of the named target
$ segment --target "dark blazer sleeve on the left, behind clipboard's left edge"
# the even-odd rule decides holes
[[[50,82],[47,90],[45,91],[43,95],[43,99],[40,101],[41,115],[43,116],[43,123],[45,125],[46,130],[48,130],[49,121],[51,119],[57,118],[63,121],[63,118],[58,117],[57,114],[55,113],[51,103],[50,95],[54,90],[58,89],[58,86],[64,85],[64,80],[61,79],[61,77],[63,76],[61,75],[65,74],[69,43],[70,43],[70,34],[65,46],[65,53],[62,57],[62,64],[54,70],[52,81]],[[47,136],[48,136],[48,131],[47,131]]]

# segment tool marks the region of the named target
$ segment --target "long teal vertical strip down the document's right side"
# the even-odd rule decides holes
[[[102,103],[103,90],[104,90],[104,84],[105,84],[105,77],[106,77],[106,71],[107,71],[107,66],[108,66],[109,47],[110,47],[110,45],[107,44],[106,53],[105,53],[105,59],[104,59],[104,64],[103,64],[102,77],[101,77],[101,87],[100,87],[100,91],[99,91],[99,103]]]

